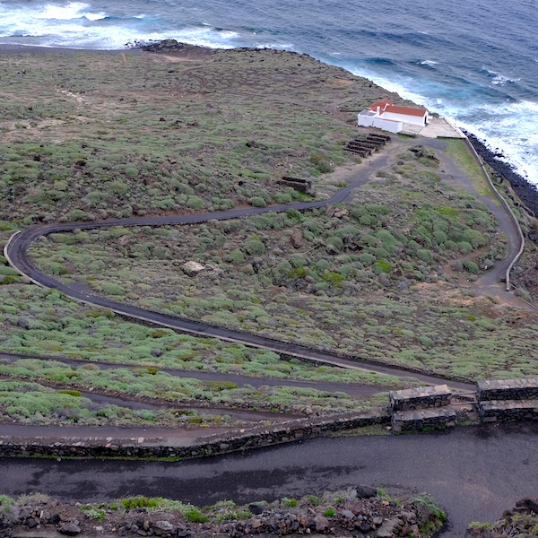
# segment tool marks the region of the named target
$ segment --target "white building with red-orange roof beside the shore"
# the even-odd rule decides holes
[[[378,127],[391,133],[399,133],[404,124],[426,126],[428,110],[426,108],[396,107],[391,100],[380,100],[362,110],[357,117],[357,124],[364,127]]]

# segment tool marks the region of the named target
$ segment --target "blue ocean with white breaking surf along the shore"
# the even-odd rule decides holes
[[[536,0],[0,0],[0,44],[307,53],[450,117],[538,185]]]

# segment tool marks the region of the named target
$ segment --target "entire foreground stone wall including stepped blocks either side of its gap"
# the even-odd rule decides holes
[[[478,401],[473,409],[483,422],[538,420],[538,379],[480,381]],[[510,396],[496,400],[498,396]],[[525,398],[525,395],[529,397]],[[191,458],[218,455],[237,450],[268,447],[280,443],[319,438],[333,432],[353,430],[370,425],[392,424],[393,432],[437,430],[456,425],[452,393],[446,385],[426,386],[389,395],[391,409],[360,414],[339,415],[338,418],[300,419],[273,427],[258,427],[239,434],[223,434],[198,439],[187,447],[151,444],[137,439],[0,437],[0,456],[54,457],[136,457]],[[116,444],[114,444],[116,443]]]

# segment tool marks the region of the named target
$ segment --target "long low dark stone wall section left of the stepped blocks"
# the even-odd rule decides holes
[[[135,440],[129,439],[126,439],[125,443],[118,442],[115,445],[103,444],[102,440],[96,441],[95,438],[69,438],[57,440],[54,443],[46,443],[43,439],[29,441],[28,439],[0,438],[0,456],[190,458],[268,447],[279,443],[323,437],[336,431],[389,423],[388,412],[372,411],[332,420],[293,421],[273,428],[248,430],[235,436],[213,436],[204,438],[204,442],[189,447],[138,445]]]

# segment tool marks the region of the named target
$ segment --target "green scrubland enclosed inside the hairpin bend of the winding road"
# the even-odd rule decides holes
[[[515,333],[511,311],[458,292],[504,256],[497,223],[433,169],[402,153],[339,217],[79,231],[31,255],[65,282],[181,317],[470,379],[535,375],[536,325]],[[187,275],[188,260],[206,271]]]

